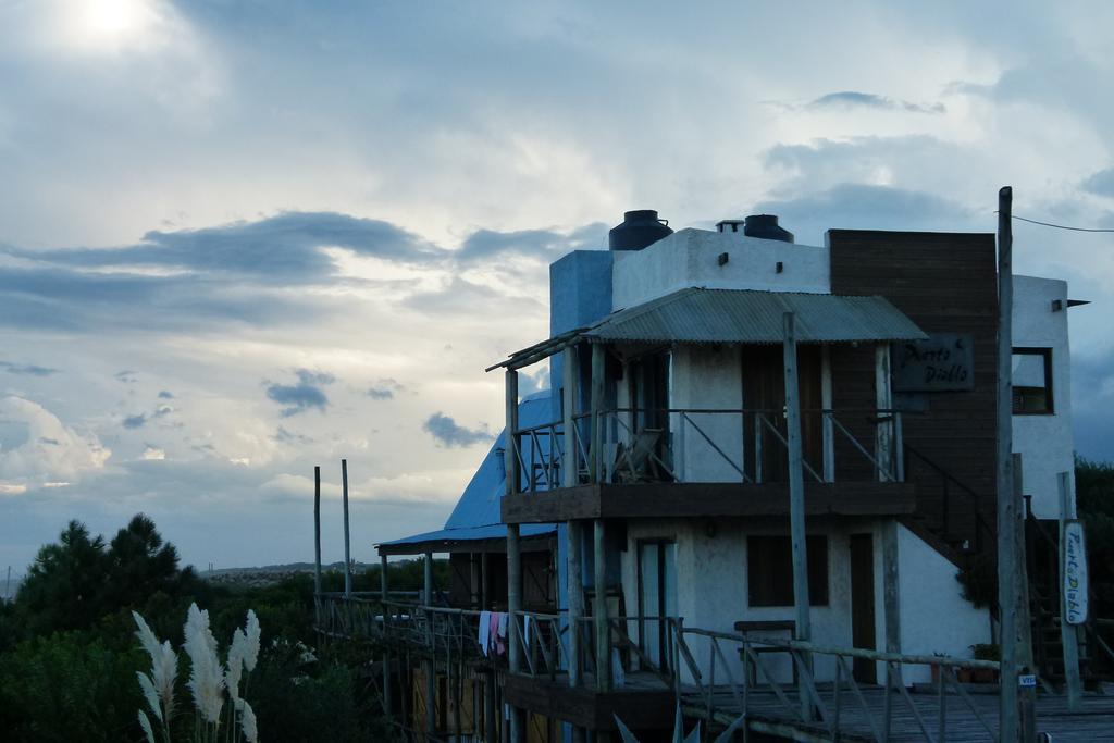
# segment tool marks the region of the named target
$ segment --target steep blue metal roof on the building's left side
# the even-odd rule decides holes
[[[551,417],[553,403],[549,390],[535,392],[518,403],[518,422],[521,428],[541,426],[549,422]],[[541,440],[546,442],[543,446],[547,446],[547,439],[543,438]],[[505,441],[506,431],[500,431],[479,469],[476,470],[476,475],[472,476],[468,487],[461,493],[460,500],[457,501],[456,508],[449,515],[449,520],[444,522],[443,529],[384,541],[380,547],[404,547],[433,541],[505,539],[507,526],[502,524],[502,515],[499,509],[502,495],[507,490],[507,473],[504,462]],[[528,451],[524,454],[529,457]],[[553,524],[524,524],[521,526],[524,537],[550,534],[556,530],[557,527]]]

